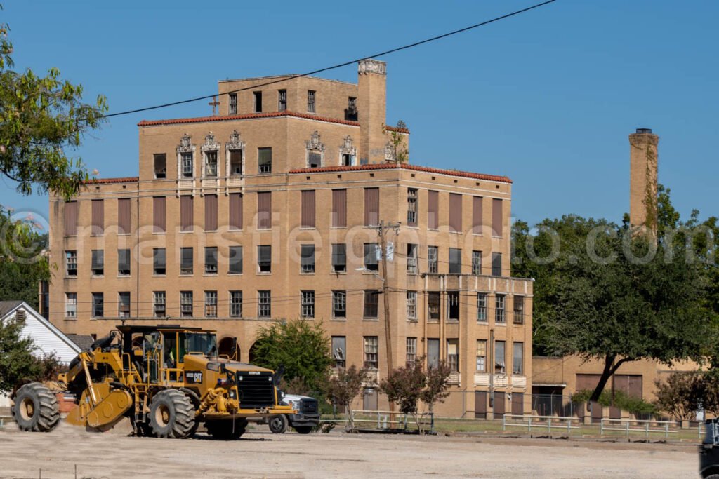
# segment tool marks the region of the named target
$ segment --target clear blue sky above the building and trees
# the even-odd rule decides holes
[[[538,0],[537,0],[538,1]],[[536,1],[4,0],[17,68],[58,67],[111,111],[216,91],[216,81],[303,73],[480,22]],[[383,57],[388,123],[411,162],[508,175],[513,216],[620,220],[627,135],[654,129],[659,180],[682,215],[719,214],[719,2],[557,0]],[[357,80],[356,66],[326,78]],[[137,175],[137,122],[209,114],[207,101],[112,118],[77,153],[101,177]],[[0,182],[0,204],[47,197]]]

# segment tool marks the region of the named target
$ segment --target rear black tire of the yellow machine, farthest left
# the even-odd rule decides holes
[[[40,383],[28,383],[18,389],[12,417],[22,431],[50,432],[60,422],[58,398]]]

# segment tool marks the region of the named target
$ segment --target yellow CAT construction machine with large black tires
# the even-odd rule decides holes
[[[214,331],[122,325],[70,363],[58,381],[29,383],[12,414],[24,431],[49,432],[60,419],[56,393],[73,394],[70,424],[111,429],[128,417],[137,435],[184,438],[201,423],[218,439],[237,439],[247,417],[294,414],[283,406],[273,371],[218,356]]]

